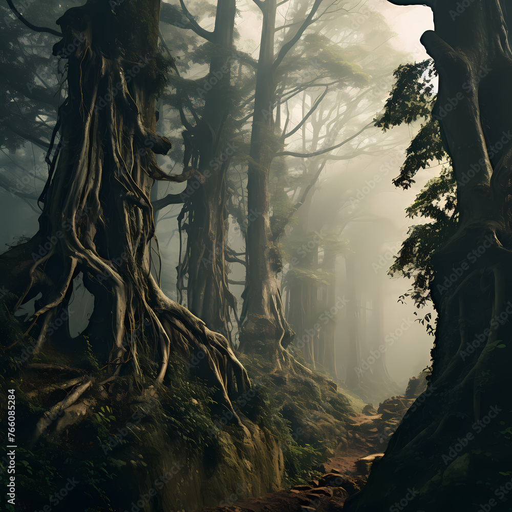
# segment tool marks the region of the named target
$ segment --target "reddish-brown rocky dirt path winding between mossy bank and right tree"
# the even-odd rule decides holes
[[[403,415],[414,399],[396,396],[386,399],[376,411],[366,406],[353,413],[347,427],[348,446],[340,444],[319,474],[307,485],[233,501],[230,506],[203,507],[196,512],[335,512],[345,500],[364,487],[373,460],[379,459]]]

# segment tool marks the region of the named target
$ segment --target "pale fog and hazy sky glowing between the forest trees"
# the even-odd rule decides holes
[[[170,3],[179,5],[177,2]],[[205,2],[195,1],[189,4],[190,12],[197,16],[203,28],[211,30],[214,26],[214,18],[209,17],[208,10],[203,5]],[[213,8],[215,4],[210,2],[210,5]],[[374,80],[368,93],[371,101],[361,103],[362,109],[344,121],[343,126],[334,134],[336,141],[353,135],[361,126],[378,115],[393,85],[391,74],[400,63],[428,58],[419,44],[418,34],[433,28],[432,13],[426,7],[398,7],[379,0],[370,0],[367,3],[353,2],[351,5],[349,21],[344,23],[347,27],[357,28],[358,39],[351,40],[349,37],[345,42],[340,43],[340,48],[349,52],[350,45],[357,44],[360,51],[364,50],[368,53],[365,58],[359,59],[360,69],[372,75],[374,73],[372,69],[375,70],[381,66],[382,76],[378,79],[374,77],[376,81]],[[236,20],[239,34],[236,47],[257,58],[261,16],[251,2],[240,2],[238,7],[240,17]],[[280,10],[280,13],[281,22],[285,12]],[[375,18],[374,13],[380,13],[382,17]],[[385,27],[386,24],[389,28]],[[167,43],[171,45],[171,51],[173,51],[172,42],[180,37],[179,30],[162,24],[162,33]],[[392,33],[388,34],[389,30]],[[387,49],[393,49],[395,53],[391,55],[391,50]],[[191,48],[188,48],[188,51],[190,50]],[[51,49],[39,51],[50,53]],[[199,79],[207,74],[207,66],[204,63],[187,60],[187,49],[181,47],[176,50],[175,55],[179,57],[177,68],[184,78]],[[380,63],[379,60],[382,62]],[[314,68],[314,61],[311,66]],[[49,74],[54,77],[51,85],[56,86],[57,63],[53,57],[49,59]],[[353,94],[355,92],[352,92],[349,87],[348,90],[340,93],[338,100],[351,98]],[[325,101],[330,102],[326,104],[327,111],[327,107],[330,108],[336,101],[336,95],[327,96]],[[297,100],[289,106],[291,108],[290,125],[293,126],[301,118],[301,103]],[[158,157],[159,164],[168,172],[169,167],[175,166],[176,162],[180,161],[176,155],[179,156],[183,152],[181,127],[177,126],[179,115],[173,106],[161,102],[159,108],[158,133],[169,136],[174,144],[173,154]],[[304,220],[311,231],[318,233],[326,229],[338,231],[337,234],[343,241],[344,248],[336,255],[335,282],[331,285],[335,287],[336,298],[348,299],[348,272],[353,272],[360,324],[360,361],[368,360],[371,356],[371,347],[385,345],[386,348],[379,352],[379,357],[385,359],[389,376],[402,392],[411,376],[417,375],[423,368],[430,365],[430,350],[433,344],[433,337],[429,336],[425,327],[416,321],[430,310],[428,308],[418,310],[410,300],[400,302],[399,297],[411,288],[411,283],[399,276],[391,278],[387,274],[402,241],[407,237],[408,228],[415,223],[423,222],[421,219],[407,219],[404,210],[414,202],[416,194],[438,169],[436,166],[422,170],[416,177],[416,183],[408,190],[396,188],[392,184],[392,179],[399,173],[406,148],[418,127],[419,122],[411,126],[401,125],[383,133],[379,128],[372,126],[364,133],[364,138],[361,136],[354,143],[337,150],[337,155],[350,155],[351,152],[357,153],[358,147],[367,148],[363,154],[347,159],[330,160],[326,163],[308,198],[309,216]],[[306,123],[303,131],[311,130],[310,122]],[[287,150],[301,148],[303,137],[301,132],[298,131],[290,140],[287,140]],[[325,135],[325,132],[322,133]],[[289,168],[296,167],[301,163],[298,160],[301,159],[293,161],[292,158],[287,158],[286,165]],[[45,170],[42,170],[46,165],[44,151],[41,148],[27,142],[17,151],[5,149],[0,155],[0,162],[2,173],[14,181],[18,180],[18,185],[21,183],[19,187],[35,194],[40,193],[46,179]],[[306,162],[307,165],[309,165],[308,162]],[[26,170],[22,170],[22,167]],[[233,173],[241,173],[241,182],[245,184],[245,164],[234,160],[231,170]],[[185,190],[186,186],[186,184],[158,183],[155,185],[155,197],[161,198],[169,193],[179,194]],[[301,208],[305,207],[306,205]],[[38,208],[33,199],[23,199],[3,189],[0,209],[4,219],[0,230],[0,241],[3,246],[15,244],[16,237],[30,237],[37,230]],[[162,288],[174,300],[178,297],[176,266],[180,257],[180,244],[176,216],[180,210],[181,205],[178,204],[159,211],[156,230],[162,262]],[[303,222],[301,215],[303,214],[299,209],[285,229],[283,243],[286,244],[287,237],[292,237],[293,233],[296,233],[297,226]],[[245,240],[232,216],[229,225],[230,246],[236,252],[243,252]],[[183,233],[183,243],[185,239],[186,234]],[[319,245],[322,251],[322,244]],[[322,260],[322,254],[319,258]],[[353,264],[347,270],[349,259]],[[282,283],[286,281],[288,270],[290,270],[290,262],[284,258],[284,268],[279,276]],[[240,264],[232,264],[229,279],[233,282],[244,282],[244,267]],[[244,286],[232,284],[230,289],[238,299],[240,314]],[[284,302],[287,300],[287,294],[286,291],[283,293]],[[83,326],[87,325],[92,300],[84,292],[83,286],[75,284],[73,301],[72,309],[77,313],[73,316],[71,330],[78,333]],[[380,327],[377,331],[372,331],[368,326],[372,322],[372,315],[373,317],[376,315],[377,302],[380,304]],[[186,305],[186,296],[184,304]],[[29,314],[31,308],[33,310],[30,304],[25,305]],[[337,378],[346,379],[347,372],[350,371],[347,362],[347,324],[350,320],[348,308],[338,309],[332,315],[330,322],[335,325]],[[375,332],[378,332],[377,336],[382,339],[374,339]],[[237,328],[234,326],[235,344],[238,339],[236,333]],[[390,335],[392,335],[391,338],[389,338]],[[393,342],[386,342],[387,338],[393,339]]]

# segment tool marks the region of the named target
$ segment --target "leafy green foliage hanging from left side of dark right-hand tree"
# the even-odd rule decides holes
[[[389,270],[390,275],[400,274],[412,279],[412,289],[400,300],[411,296],[416,306],[422,307],[431,300],[430,287],[434,278],[431,256],[455,232],[458,211],[456,182],[449,157],[443,148],[439,123],[432,119],[431,108],[435,100],[431,60],[400,66],[394,73],[396,83],[386,102],[385,112],[377,123],[383,131],[402,122],[413,123],[424,118],[426,123],[411,141],[407,149],[400,175],[393,180],[396,186],[407,189],[421,168],[433,161],[447,162],[438,176],[430,179],[406,209],[411,219],[420,217],[425,222],[412,226],[398,256]],[[428,222],[426,222],[428,221]],[[430,316],[418,319],[432,333]]]

